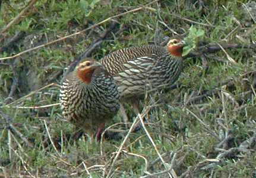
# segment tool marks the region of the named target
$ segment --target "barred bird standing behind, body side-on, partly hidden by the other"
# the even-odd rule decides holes
[[[166,46],[145,45],[122,48],[104,56],[104,64],[118,86],[121,113],[125,121],[124,103],[131,102],[136,114],[138,102],[150,88],[163,89],[178,80],[182,72],[183,37],[171,38]]]

